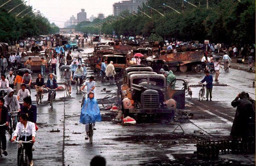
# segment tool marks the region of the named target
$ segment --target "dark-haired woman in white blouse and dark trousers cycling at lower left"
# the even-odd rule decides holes
[[[25,113],[20,114],[20,122],[17,123],[16,130],[14,131],[14,136],[12,142],[16,140],[17,135],[19,135],[19,141],[30,141],[35,142],[35,124],[31,121],[28,121],[28,116]],[[32,143],[24,143],[24,148],[26,149],[29,166],[33,166],[33,154],[32,154]],[[18,158],[20,155],[21,149],[18,149]]]

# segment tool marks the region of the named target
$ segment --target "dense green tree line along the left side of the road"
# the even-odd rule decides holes
[[[0,6],[7,0],[0,0]],[[12,0],[0,8],[0,42],[13,42],[26,37],[55,34],[59,28],[50,24],[45,17],[34,16],[32,8],[20,5],[11,12],[12,8],[22,3],[21,0]],[[27,9],[26,9],[27,8]],[[26,9],[25,11],[23,11]],[[23,11],[22,13],[20,13]],[[19,14],[17,16],[17,14]]]

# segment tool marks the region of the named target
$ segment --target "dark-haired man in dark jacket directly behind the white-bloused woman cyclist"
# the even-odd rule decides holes
[[[28,115],[28,121],[36,123],[37,119],[37,107],[32,104],[30,97],[23,98],[23,107],[21,107],[21,113],[26,113]]]

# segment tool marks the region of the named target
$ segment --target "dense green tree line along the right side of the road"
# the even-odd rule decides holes
[[[163,39],[175,38],[184,41],[202,42],[204,39],[209,39],[210,42],[224,43],[255,42],[255,0],[209,0],[208,9],[206,0],[188,1],[197,8],[186,2],[183,7],[182,0],[148,0],[139,7],[139,10],[144,11],[151,18],[141,12],[136,13],[135,16],[128,11],[123,13],[125,15],[123,18],[109,16],[104,20],[105,23],[101,22],[102,34],[113,34],[114,31],[117,35],[149,37],[151,34],[157,34]],[[175,8],[180,14],[163,7],[163,3]],[[165,16],[161,16],[148,6],[157,9]],[[82,23],[77,29],[98,34],[99,28],[91,25],[92,23],[89,22]]]

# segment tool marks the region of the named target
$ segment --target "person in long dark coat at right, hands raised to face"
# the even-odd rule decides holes
[[[239,93],[231,105],[237,108],[230,135],[241,138],[255,137],[255,131],[250,129],[250,124],[255,123],[255,113],[253,104],[247,99],[246,93]]]

